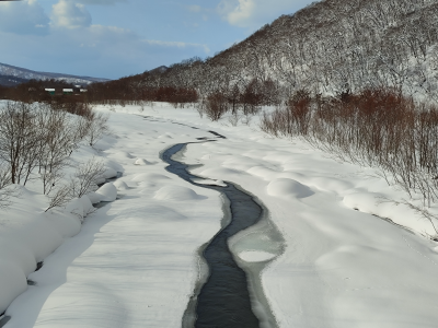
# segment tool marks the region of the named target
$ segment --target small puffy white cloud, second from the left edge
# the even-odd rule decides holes
[[[91,15],[83,4],[59,0],[53,5],[51,24],[67,28],[88,27],[91,25]]]

